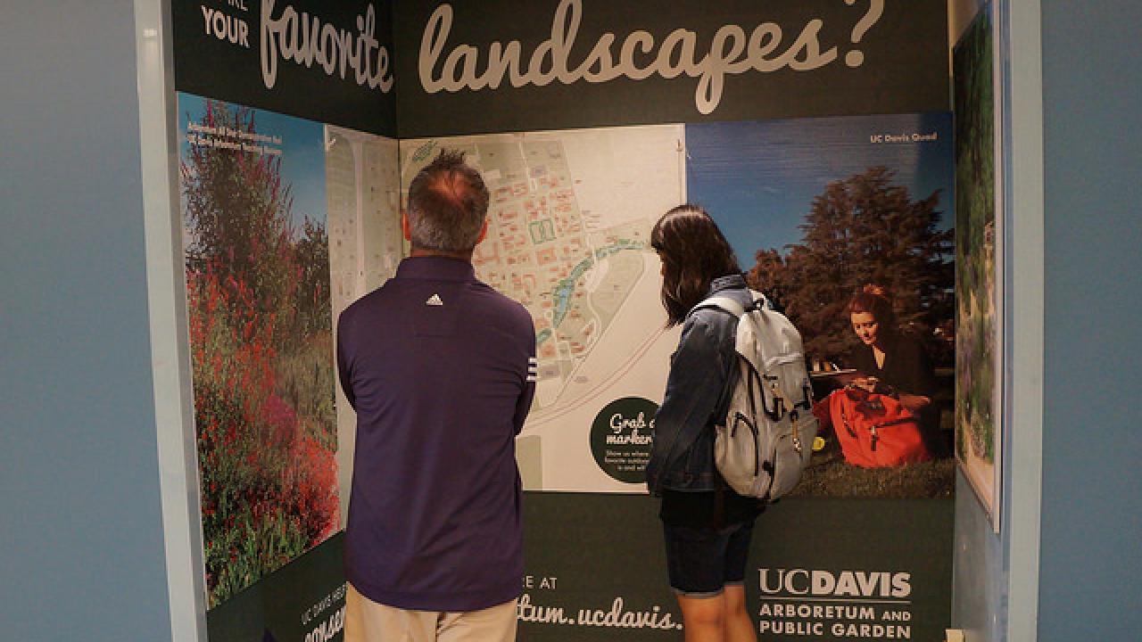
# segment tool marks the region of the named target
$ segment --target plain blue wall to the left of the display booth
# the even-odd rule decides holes
[[[5,640],[170,639],[132,15],[0,21]]]

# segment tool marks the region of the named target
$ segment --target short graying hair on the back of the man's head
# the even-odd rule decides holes
[[[488,215],[488,200],[484,179],[464,162],[464,152],[441,150],[409,185],[412,246],[444,252],[472,251]]]

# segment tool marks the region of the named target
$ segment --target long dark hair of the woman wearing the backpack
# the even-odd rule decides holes
[[[709,294],[710,281],[741,271],[717,224],[694,204],[678,206],[662,215],[650,232],[650,244],[662,259],[667,326],[686,319],[690,308]]]

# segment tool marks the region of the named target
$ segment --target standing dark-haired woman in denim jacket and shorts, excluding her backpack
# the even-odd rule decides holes
[[[724,414],[737,376],[737,318],[717,308],[691,312],[714,294],[743,306],[753,296],[730,243],[697,206],[666,212],[651,231],[651,246],[662,260],[667,322],[682,324],[646,466],[648,487],[662,498],[670,587],[687,642],[753,642],[743,580],[762,504],[735,493],[714,464],[715,417]]]

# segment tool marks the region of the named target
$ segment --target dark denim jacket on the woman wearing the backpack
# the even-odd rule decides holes
[[[753,303],[740,274],[715,279],[709,294]],[[678,350],[670,356],[666,395],[654,416],[654,442],[646,465],[652,495],[662,489],[714,490],[714,430],[725,411],[731,377],[738,376],[734,337],[738,319],[719,308],[690,313],[682,326]],[[721,412],[719,412],[721,411]]]

